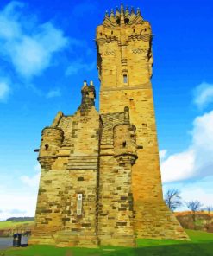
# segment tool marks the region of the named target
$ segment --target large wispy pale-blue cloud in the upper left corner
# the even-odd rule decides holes
[[[29,20],[30,30],[26,29],[23,7],[23,3],[12,2],[0,12],[0,54],[18,74],[31,78],[51,65],[53,54],[66,48],[68,39],[51,22]]]

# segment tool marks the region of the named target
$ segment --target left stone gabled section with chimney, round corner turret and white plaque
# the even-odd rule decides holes
[[[85,85],[78,111],[72,117],[58,113],[52,127],[42,131],[41,182],[31,243],[97,246],[101,129],[92,91]],[[78,195],[82,195],[80,214]]]

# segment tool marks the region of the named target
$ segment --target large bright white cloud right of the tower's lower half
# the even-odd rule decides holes
[[[195,118],[188,149],[161,162],[163,182],[177,182],[196,176],[209,176],[213,170],[213,111]]]

